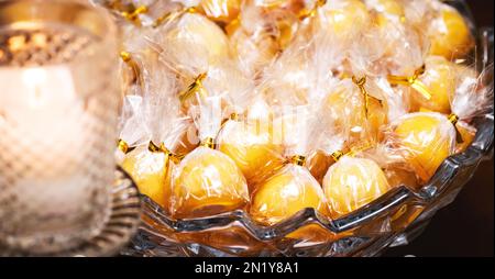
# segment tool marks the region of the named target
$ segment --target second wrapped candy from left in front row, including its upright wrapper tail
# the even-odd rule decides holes
[[[199,114],[195,119],[201,145],[174,170],[169,212],[176,219],[242,209],[250,200],[242,171],[229,156],[213,148],[222,120],[220,98],[197,97]]]

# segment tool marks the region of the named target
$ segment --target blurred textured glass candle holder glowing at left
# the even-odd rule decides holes
[[[75,247],[110,214],[117,26],[78,0],[0,0],[0,243]]]

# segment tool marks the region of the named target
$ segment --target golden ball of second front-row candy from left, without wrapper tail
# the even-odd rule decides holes
[[[183,159],[174,174],[174,217],[208,216],[242,209],[249,201],[241,170],[221,152],[200,146]]]

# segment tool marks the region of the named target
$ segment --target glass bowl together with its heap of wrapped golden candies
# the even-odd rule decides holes
[[[463,1],[97,2],[145,201],[124,254],[378,255],[491,149],[493,32]]]

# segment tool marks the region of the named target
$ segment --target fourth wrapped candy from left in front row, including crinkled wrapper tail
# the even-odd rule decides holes
[[[337,88],[340,86],[341,83],[338,83]],[[339,100],[336,99],[336,96],[341,98],[341,92],[332,90],[326,97],[327,109],[323,118],[328,118],[329,126],[322,132],[324,141],[321,144],[321,149],[333,163],[324,171],[322,179],[330,216],[333,219],[362,208],[391,189],[382,166],[371,159],[371,156],[364,156],[364,150],[375,147],[377,144],[378,138],[375,135],[377,131],[367,127],[373,125],[373,122],[369,122],[365,116],[358,120],[359,122],[355,122],[356,119],[353,119],[352,115],[343,116],[345,114],[342,113],[345,111],[342,111],[342,105],[345,102],[336,104],[334,101]],[[361,96],[359,97],[356,101],[363,100]],[[362,105],[355,108],[358,111],[352,110],[351,107],[346,108],[354,114],[361,112],[364,115],[365,113]],[[391,103],[391,114],[393,114],[393,108],[394,105]],[[362,130],[360,136],[352,140],[356,124],[362,126]],[[350,152],[346,152],[348,149]],[[385,168],[386,165],[383,165]]]

